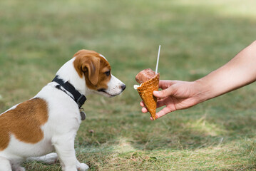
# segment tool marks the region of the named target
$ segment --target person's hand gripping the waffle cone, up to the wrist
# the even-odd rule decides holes
[[[154,91],[153,95],[158,98],[157,108],[165,105],[165,108],[155,114],[158,119],[167,113],[175,110],[190,108],[201,102],[200,100],[200,86],[196,82],[187,81],[159,81],[159,88],[162,90]],[[143,101],[140,102],[143,107],[142,112],[147,113]],[[153,120],[153,118],[150,118]]]

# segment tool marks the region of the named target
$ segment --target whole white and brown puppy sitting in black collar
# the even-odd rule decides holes
[[[52,151],[56,151],[62,170],[87,170],[74,150],[76,132],[84,117],[79,108],[88,94],[113,97],[125,88],[112,76],[104,56],[78,51],[34,98],[1,113],[0,171],[25,170],[20,166],[24,160]],[[54,161],[57,155],[41,158]]]

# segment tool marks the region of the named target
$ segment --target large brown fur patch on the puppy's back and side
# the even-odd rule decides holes
[[[0,151],[9,145],[10,135],[35,144],[43,139],[41,126],[48,120],[45,100],[34,98],[0,115]]]

